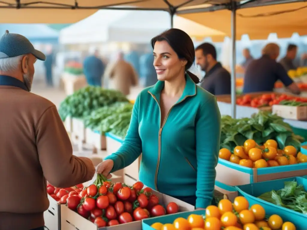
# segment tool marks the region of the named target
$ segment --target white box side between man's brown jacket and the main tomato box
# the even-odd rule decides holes
[[[61,229],[61,208],[60,204],[56,202],[50,195],[49,208],[44,212],[45,228],[49,230],[60,230]]]

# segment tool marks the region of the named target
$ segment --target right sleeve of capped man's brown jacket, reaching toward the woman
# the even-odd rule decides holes
[[[72,144],[56,106],[49,107],[36,125],[39,161],[47,181],[66,188],[91,180],[95,167],[90,159],[72,155]]]

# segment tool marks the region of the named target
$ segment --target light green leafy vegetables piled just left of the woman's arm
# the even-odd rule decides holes
[[[91,130],[98,130],[101,134],[111,132],[124,139],[129,128],[132,109],[133,104],[126,102],[104,106],[84,117],[84,124]]]

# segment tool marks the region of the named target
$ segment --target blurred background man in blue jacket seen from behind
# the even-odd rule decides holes
[[[102,76],[105,65],[101,59],[98,58],[99,51],[95,50],[93,55],[85,58],[83,63],[83,72],[90,86],[102,86]]]

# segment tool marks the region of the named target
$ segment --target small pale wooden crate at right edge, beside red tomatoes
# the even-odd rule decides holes
[[[307,120],[307,106],[273,105],[272,112],[285,119]]]

